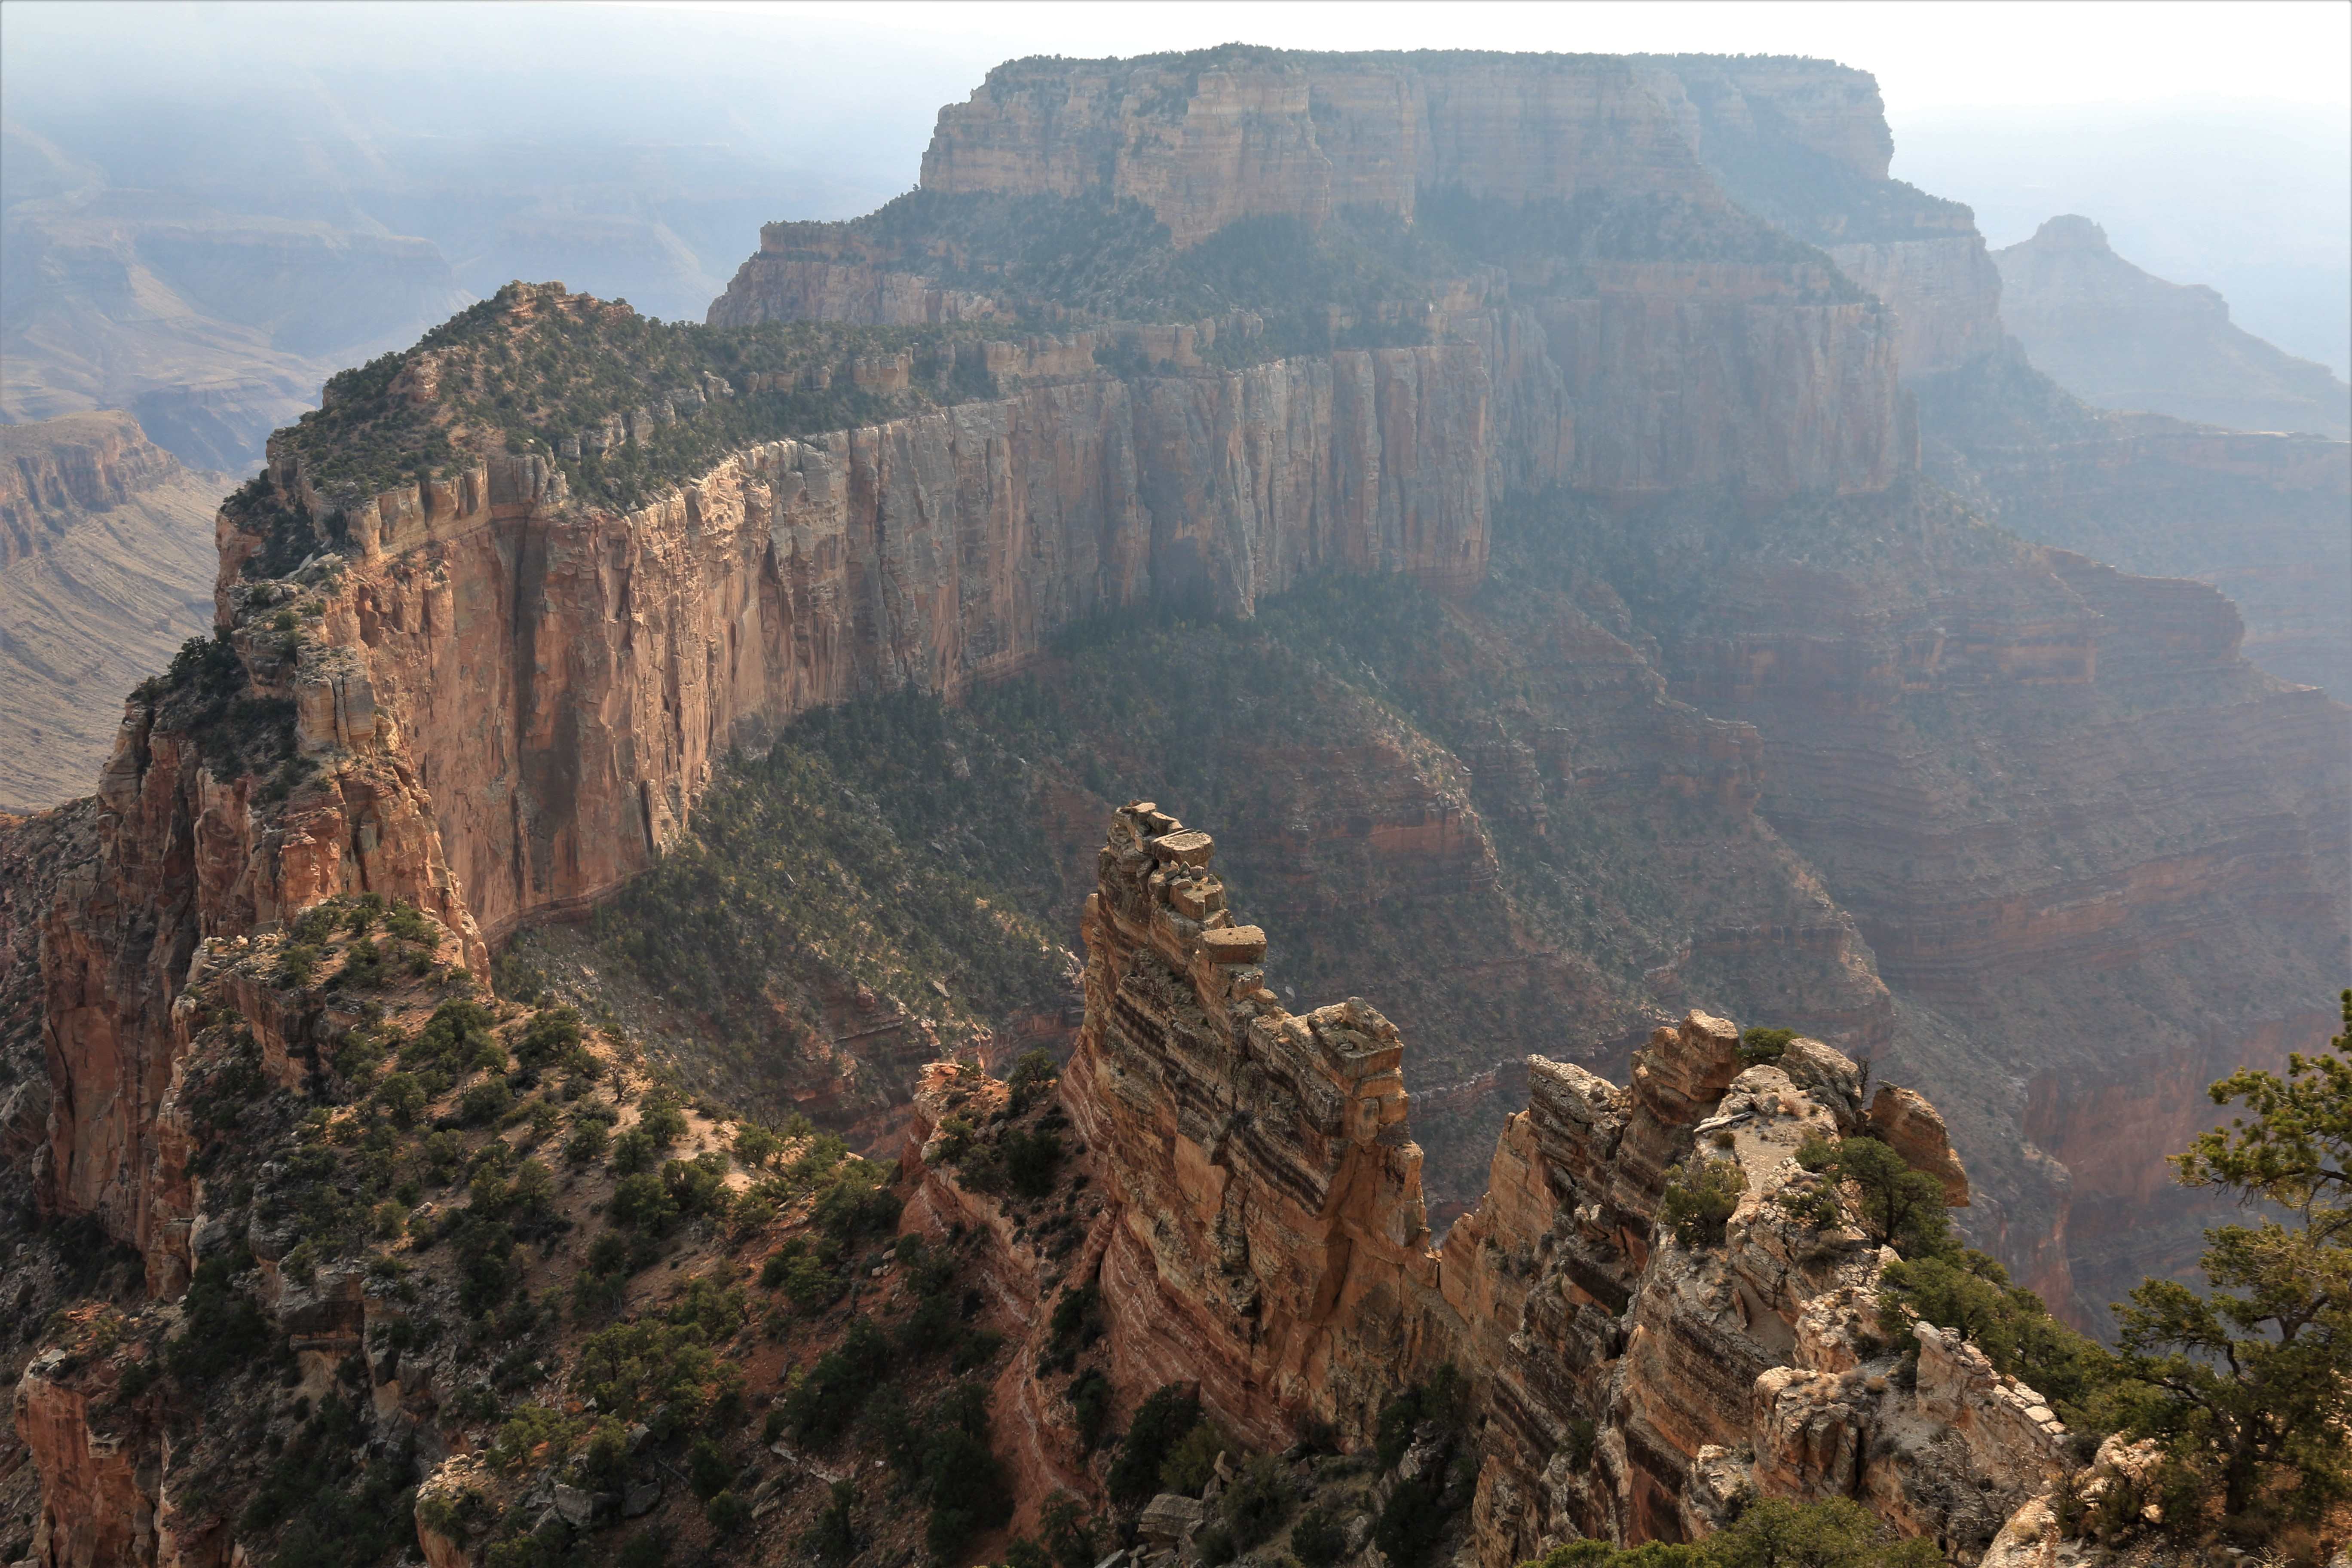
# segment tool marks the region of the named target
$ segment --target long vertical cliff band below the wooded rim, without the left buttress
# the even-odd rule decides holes
[[[1247,614],[1331,569],[1475,583],[1484,421],[1475,355],[1425,348],[1040,386],[753,447],[626,515],[492,458],[376,498],[327,635],[496,938],[649,865],[748,722],[955,696],[1143,599]]]

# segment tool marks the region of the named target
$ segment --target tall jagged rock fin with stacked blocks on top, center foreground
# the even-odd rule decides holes
[[[1197,1380],[1256,1446],[1308,1415],[1362,1441],[1435,1349],[1404,1046],[1364,1001],[1289,1013],[1211,853],[1209,835],[1127,806],[1087,900],[1063,1098],[1112,1192],[1112,1378]]]

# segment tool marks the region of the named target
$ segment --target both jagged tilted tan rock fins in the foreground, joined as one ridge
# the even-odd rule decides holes
[[[1529,1063],[1491,1185],[1428,1246],[1404,1041],[1369,1004],[1289,1013],[1235,924],[1209,835],[1124,806],[1087,903],[1087,1023],[1063,1100],[1105,1187],[1101,1291],[1129,1396],[1197,1382],[1254,1443],[1308,1418],[1362,1441],[1451,1361],[1486,1425],[1470,1542],[1503,1566],[1573,1535],[1684,1540],[1740,1488],[1849,1495],[1903,1533],[1990,1540],[2065,1469],[2065,1429],[1973,1347],[1919,1331],[1917,1389],[1875,1340],[1882,1253],[1792,1218],[1795,1152],[1875,1126],[1966,1201],[1917,1095],[1799,1039],[1748,1065],[1691,1013],[1630,1088]],[[1736,1161],[1724,1239],[1658,1225],[1670,1168]]]

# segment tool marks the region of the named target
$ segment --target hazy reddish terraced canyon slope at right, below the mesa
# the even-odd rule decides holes
[[[2161,1157],[2209,1121],[2199,1088],[2328,1034],[2347,712],[2246,665],[2201,583],[2063,550],[1907,604],[1809,576],[1684,578],[1675,691],[1757,726],[1764,816],[1853,912],[1893,1063],[1983,1161],[1973,1234],[2100,1324],[2197,1251]]]

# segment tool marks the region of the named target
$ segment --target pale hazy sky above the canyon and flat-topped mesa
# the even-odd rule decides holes
[[[485,139],[541,148],[506,167],[524,176],[628,146],[724,148],[764,169],[764,216],[840,219],[913,186],[938,108],[997,61],[1232,40],[1837,59],[1877,75],[1893,172],[1978,207],[1994,244],[2082,212],[2159,275],[2223,287],[2274,341],[2338,374],[2352,362],[2343,0],[5,0],[0,108],[78,148],[111,141],[87,155],[118,183],[176,179],[132,165],[205,158],[207,132],[242,115],[287,127],[256,146],[348,127],[454,158]]]

